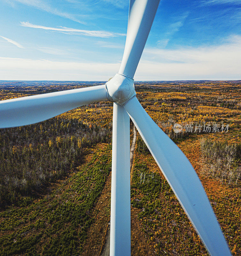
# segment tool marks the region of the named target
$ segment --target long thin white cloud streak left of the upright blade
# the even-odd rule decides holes
[[[81,34],[85,36],[95,36],[95,37],[113,37],[113,36],[125,36],[125,34],[120,33],[113,33],[109,31],[101,31],[101,30],[84,30],[84,29],[76,29],[76,28],[66,28],[66,27],[60,27],[60,28],[51,28],[51,27],[45,27],[41,25],[34,25],[29,22],[20,22],[21,26],[28,27],[28,28],[39,28],[44,30],[51,30],[51,31],[58,31],[58,32],[68,32],[69,34]]]

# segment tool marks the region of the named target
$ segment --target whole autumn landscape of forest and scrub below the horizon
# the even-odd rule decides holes
[[[99,84],[0,81],[0,100]],[[233,255],[241,255],[240,81],[135,88],[191,162]],[[112,113],[111,102],[98,102],[0,130],[0,256],[100,255],[110,217]],[[176,123],[182,132],[174,133]],[[208,255],[139,134],[131,205],[132,255]]]

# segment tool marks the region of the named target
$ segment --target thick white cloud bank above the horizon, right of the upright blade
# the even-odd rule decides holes
[[[140,77],[147,78],[145,70],[148,70],[150,79],[147,80],[237,80],[241,79],[240,55],[241,36],[237,35],[213,46],[180,47],[175,50],[147,48],[136,76],[145,80]]]

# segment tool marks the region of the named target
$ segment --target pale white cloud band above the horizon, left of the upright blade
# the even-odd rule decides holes
[[[107,81],[119,65],[0,57],[0,77],[3,80]]]

